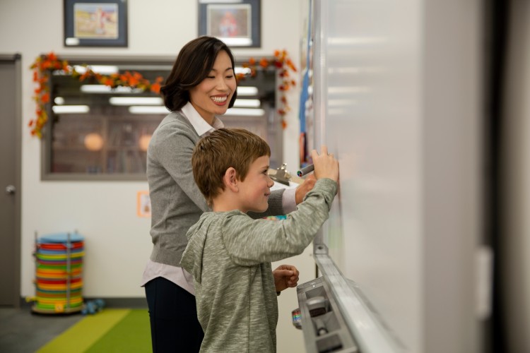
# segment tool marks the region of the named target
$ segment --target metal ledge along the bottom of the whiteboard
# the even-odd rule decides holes
[[[399,342],[377,320],[376,313],[368,307],[355,282],[346,280],[327,254],[314,253],[322,277],[329,285],[346,325],[363,353],[402,353]]]

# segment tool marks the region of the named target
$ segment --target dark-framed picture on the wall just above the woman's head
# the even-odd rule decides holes
[[[199,35],[230,47],[261,47],[260,0],[199,0]]]

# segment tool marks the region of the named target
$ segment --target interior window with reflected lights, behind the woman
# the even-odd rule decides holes
[[[167,78],[172,60],[92,59],[89,63],[102,75],[139,73],[154,83],[158,77]],[[69,63],[81,74],[86,70],[81,61]],[[238,66],[240,70],[245,68]],[[50,87],[42,179],[146,179],[147,146],[168,113],[160,95],[138,88],[110,88],[62,71],[52,73]],[[247,128],[267,140],[271,167],[278,167],[283,159],[281,116],[275,107],[276,72],[261,70],[240,80],[235,106],[221,117],[226,127]]]

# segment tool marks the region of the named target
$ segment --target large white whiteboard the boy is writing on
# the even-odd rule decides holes
[[[340,163],[315,246],[355,281],[396,347],[481,352],[478,1],[312,6],[308,135]]]

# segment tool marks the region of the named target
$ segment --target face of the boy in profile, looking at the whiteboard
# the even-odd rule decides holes
[[[269,195],[274,181],[269,177],[269,156],[261,156],[250,164],[245,181],[239,182],[239,210],[264,212],[269,208]]]

